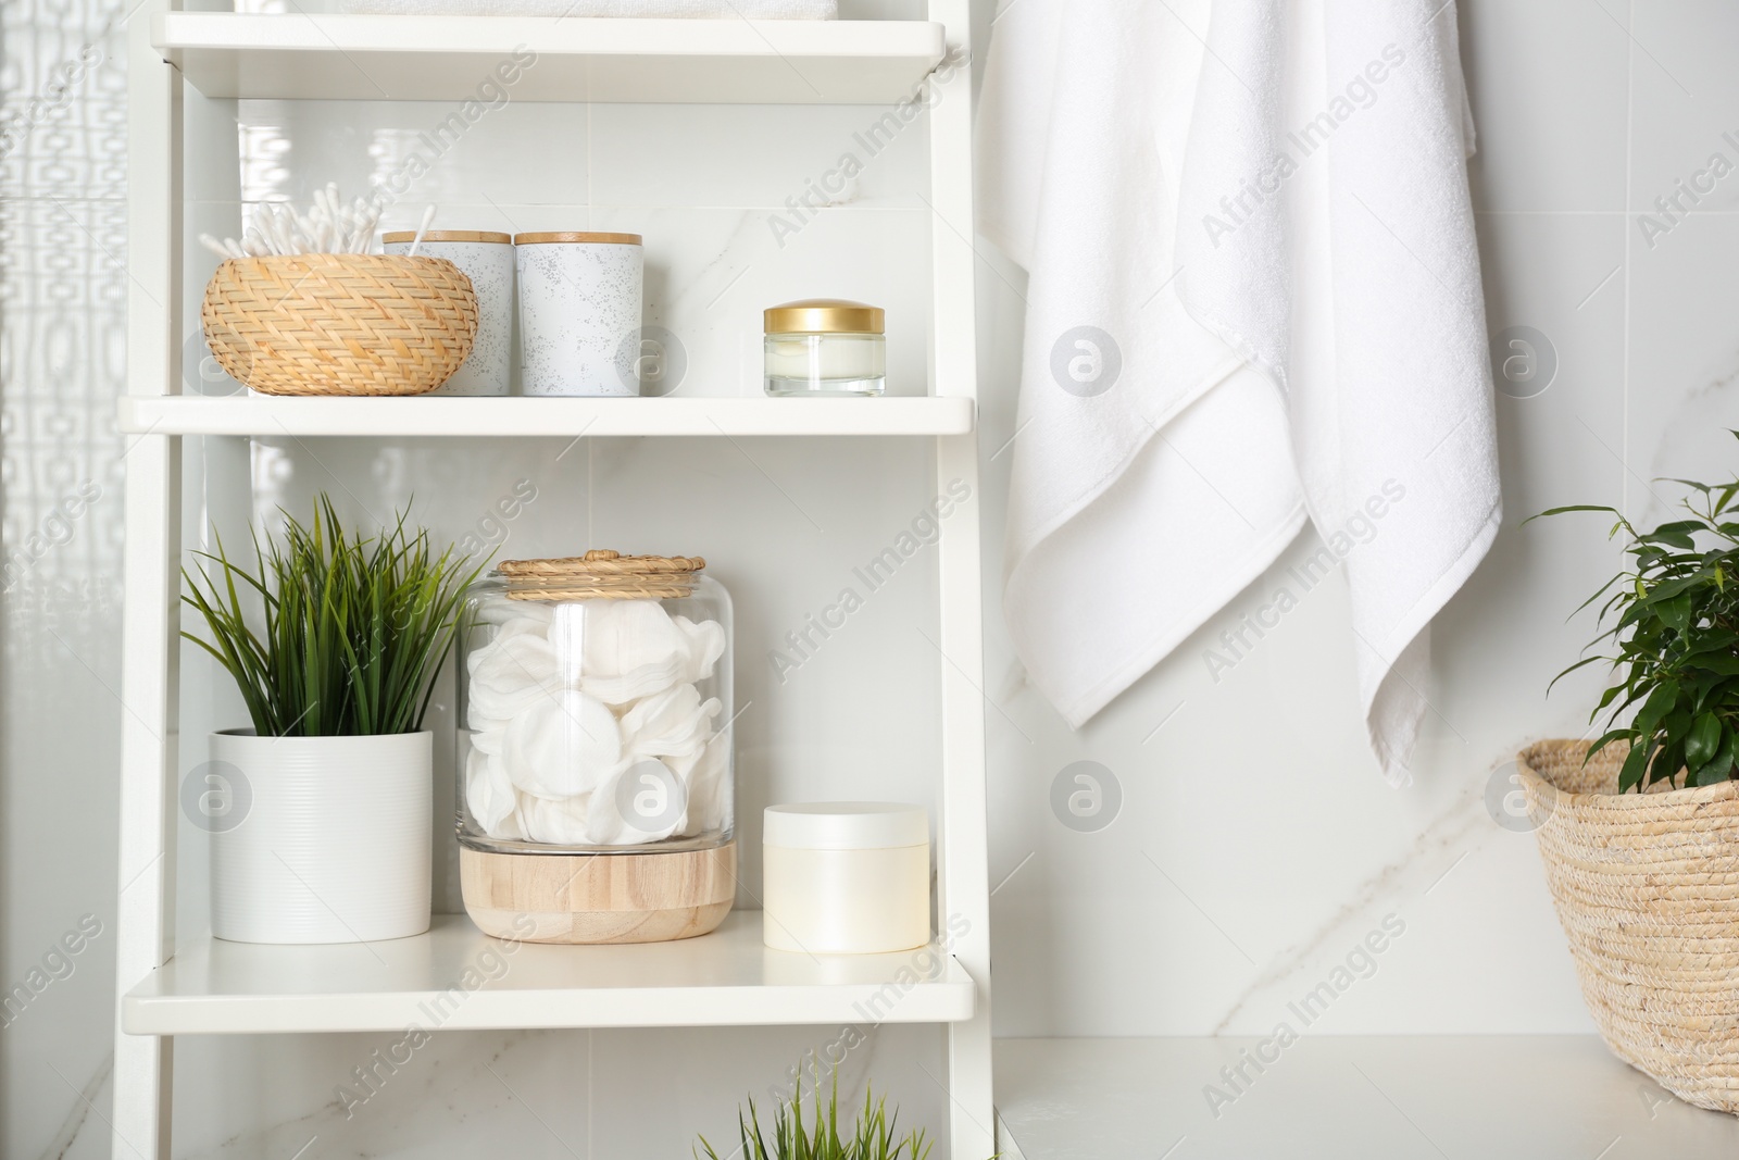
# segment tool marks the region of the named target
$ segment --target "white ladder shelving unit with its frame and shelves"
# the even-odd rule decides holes
[[[452,983],[482,934],[438,917],[416,939],[176,953],[181,440],[190,435],[878,435],[936,442],[939,480],[970,499],[941,529],[937,922],[944,969],[896,983],[909,957],[791,957],[769,972],[758,920],[645,946],[527,946],[466,1028],[842,1024],[863,1012],[948,1028],[949,1155],[993,1143],[983,602],[976,440],[969,0],[927,21],[590,21],[181,12],[146,0],[129,42],[127,553],[113,1155],[170,1155],[176,1035],[398,1030]],[[480,66],[530,43],[518,101],[892,104],[925,77],[934,339],[923,398],[205,398],[181,391],[184,85],[207,97],[463,99]],[[960,59],[960,57],[956,57]],[[363,66],[365,64],[365,73]],[[365,80],[365,83],[363,83]],[[372,953],[370,953],[372,951]],[[890,991],[894,988],[894,991]],[[897,1002],[889,1003],[889,995]],[[880,1002],[878,998],[880,997]]]

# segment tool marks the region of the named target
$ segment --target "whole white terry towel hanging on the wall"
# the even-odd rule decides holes
[[[1031,275],[1005,609],[1033,683],[1083,723],[1308,510],[1405,777],[1424,628],[1499,522],[1454,7],[1023,0],[979,144],[984,231]]]

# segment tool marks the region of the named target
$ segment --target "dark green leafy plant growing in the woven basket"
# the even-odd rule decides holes
[[[1734,431],[1739,438],[1739,431]],[[1612,654],[1584,657],[1565,675],[1600,661],[1614,682],[1589,715],[1610,708],[1607,732],[1588,748],[1591,758],[1614,741],[1628,741],[1629,755],[1619,774],[1619,791],[1673,781],[1709,786],[1739,776],[1734,737],[1739,732],[1739,480],[1711,487],[1696,480],[1668,480],[1690,489],[1683,508],[1690,518],[1671,520],[1650,532],[1636,530],[1617,508],[1574,504],[1565,511],[1605,511],[1617,517],[1609,536],[1626,537],[1631,567],[1602,584],[1581,609],[1605,597],[1600,623],[1610,623],[1589,647]],[[1537,517],[1536,517],[1537,518]],[[1577,609],[1577,612],[1581,610]],[[1629,725],[1619,718],[1638,706]]]

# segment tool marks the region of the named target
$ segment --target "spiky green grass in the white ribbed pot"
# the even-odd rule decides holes
[[[311,523],[285,520],[282,544],[254,534],[254,570],[230,560],[223,541],[195,553],[203,563],[181,570],[183,600],[210,640],[181,635],[230,671],[263,737],[419,730],[482,565],[464,570],[470,558],[454,548],[433,555],[403,513],[379,536],[346,532],[325,494]]]

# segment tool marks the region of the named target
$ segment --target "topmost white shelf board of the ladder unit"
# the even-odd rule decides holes
[[[151,43],[207,97],[654,104],[889,104],[946,50],[932,21],[250,12],[163,12]]]

